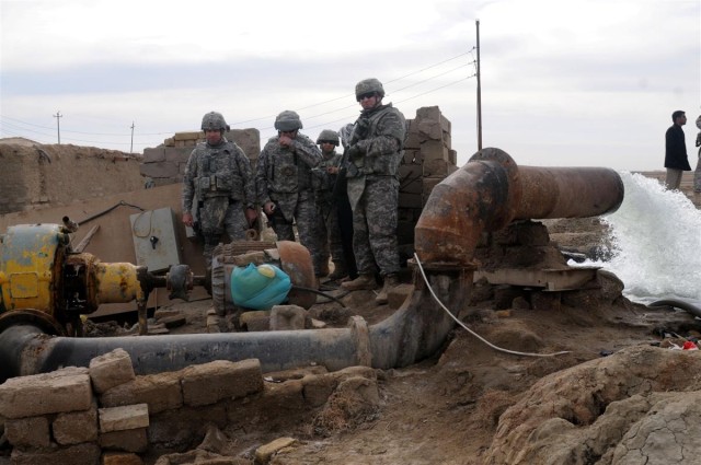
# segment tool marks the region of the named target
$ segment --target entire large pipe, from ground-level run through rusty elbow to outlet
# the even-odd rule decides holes
[[[611,170],[518,168],[505,152],[485,149],[434,188],[414,245],[430,288],[448,309],[459,311],[469,298],[472,258],[483,232],[515,219],[602,214],[614,211],[622,198],[622,183]],[[432,356],[452,327],[415,272],[411,299],[370,327],[356,318],[341,329],[85,339],[47,337],[32,325],[12,327],[0,334],[0,377],[85,367],[117,347],[130,353],[139,374],[248,358],[258,359],[264,371],[311,363],[329,370],[389,369]]]

